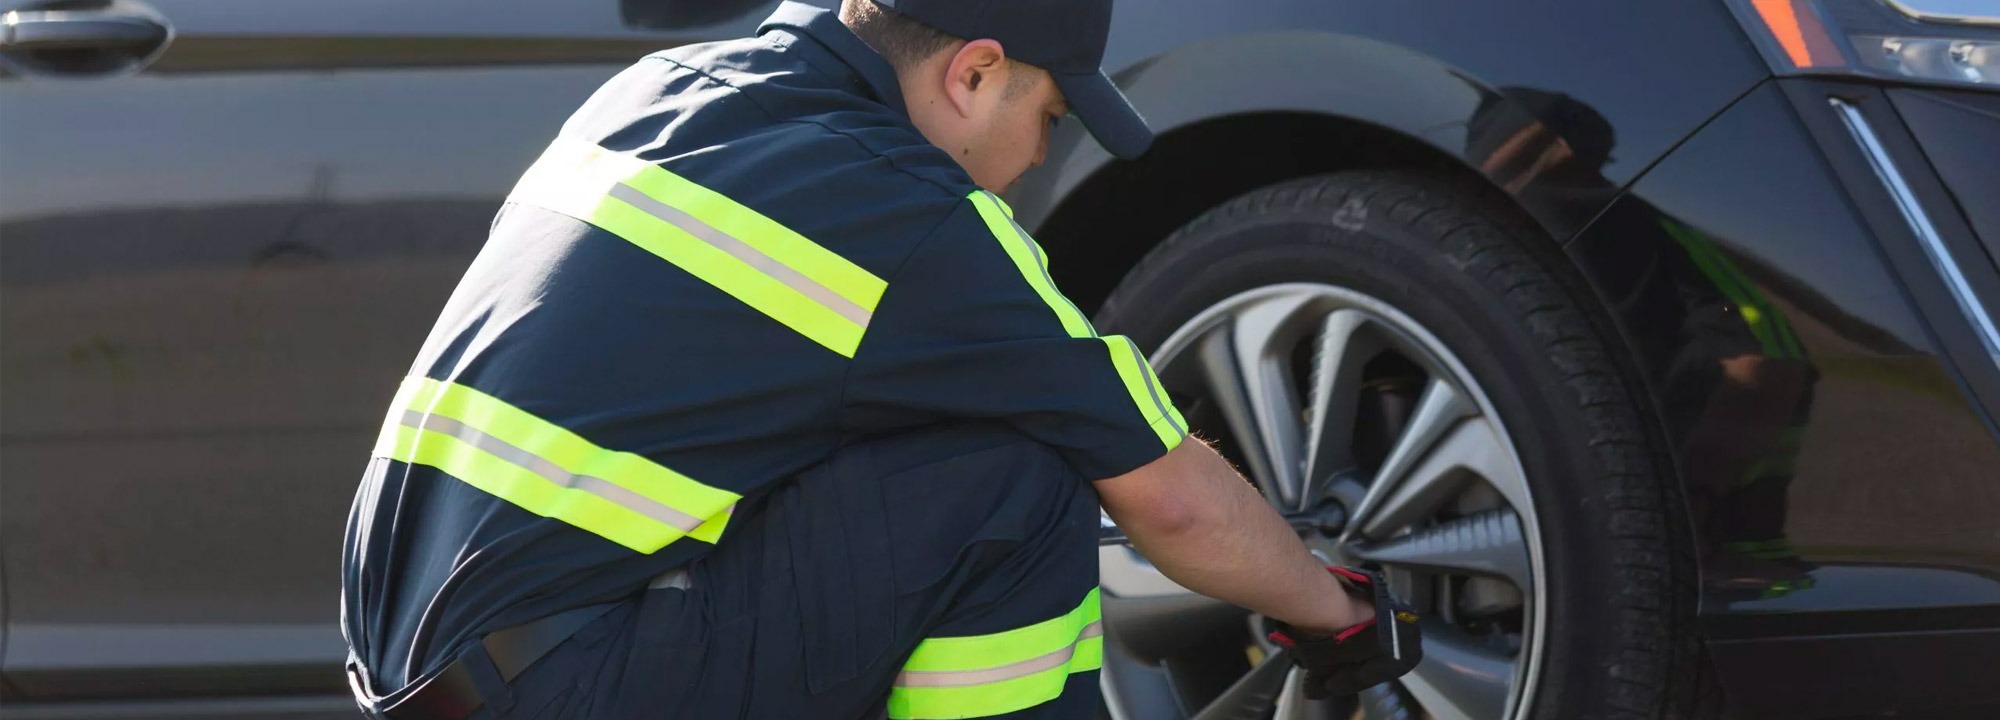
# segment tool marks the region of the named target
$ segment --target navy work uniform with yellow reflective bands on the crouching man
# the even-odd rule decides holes
[[[834,14],[652,54],[520,178],[344,548],[392,718],[1090,716],[1088,480],[1186,424]]]

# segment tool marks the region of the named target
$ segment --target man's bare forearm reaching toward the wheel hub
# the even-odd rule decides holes
[[[1196,440],[1140,478],[1098,484],[1104,512],[1180,586],[1308,630],[1368,618],[1236,468]],[[1126,482],[1144,482],[1130,486]]]

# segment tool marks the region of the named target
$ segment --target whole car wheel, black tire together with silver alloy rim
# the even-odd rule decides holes
[[[1376,564],[1424,662],[1308,702],[1266,620],[1100,548],[1110,716],[1658,718],[1694,696],[1692,566],[1610,334],[1558,250],[1424,174],[1256,190],[1154,248],[1102,332],[1308,544]]]

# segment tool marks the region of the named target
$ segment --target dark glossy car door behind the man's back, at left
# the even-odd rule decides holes
[[[614,72],[776,4],[672,2],[0,0],[10,716],[352,714],[346,510],[498,202]]]

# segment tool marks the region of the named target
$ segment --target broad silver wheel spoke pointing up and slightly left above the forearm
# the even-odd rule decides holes
[[[1292,386],[1292,318],[1312,296],[1278,296],[1240,310],[1198,348],[1216,406],[1230,424],[1250,478],[1272,502],[1294,506],[1304,448]]]

